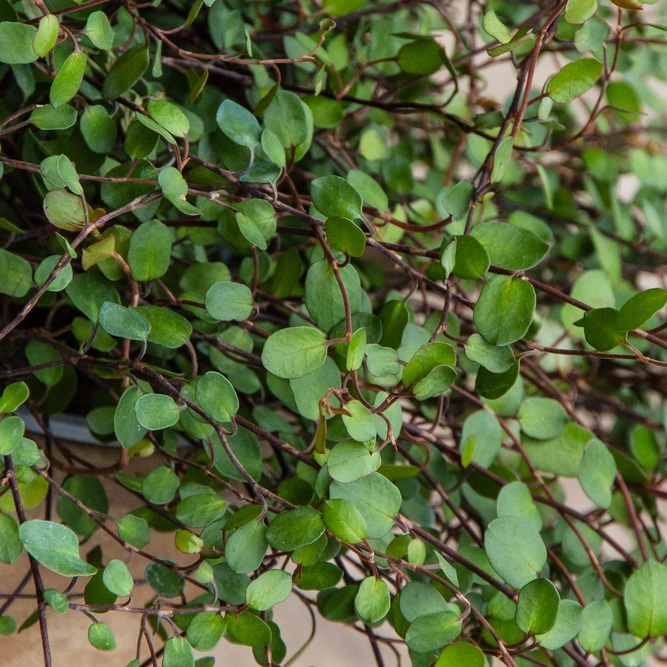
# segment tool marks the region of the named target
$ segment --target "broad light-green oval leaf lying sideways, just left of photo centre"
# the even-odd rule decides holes
[[[262,363],[281,378],[300,378],[320,368],[327,358],[326,337],[312,327],[290,327],[267,338]]]

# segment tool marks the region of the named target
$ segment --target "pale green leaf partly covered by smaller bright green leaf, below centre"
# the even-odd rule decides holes
[[[334,481],[329,496],[354,505],[366,521],[369,538],[384,537],[391,530],[402,502],[400,491],[377,472],[349,484]]]

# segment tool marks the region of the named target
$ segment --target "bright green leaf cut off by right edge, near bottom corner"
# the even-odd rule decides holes
[[[623,591],[628,629],[635,637],[661,637],[667,632],[667,567],[649,560],[632,573]]]

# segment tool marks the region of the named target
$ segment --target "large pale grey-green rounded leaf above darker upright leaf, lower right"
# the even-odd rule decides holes
[[[492,521],[484,534],[484,548],[493,569],[517,589],[535,579],[547,561],[539,532],[516,517]]]

